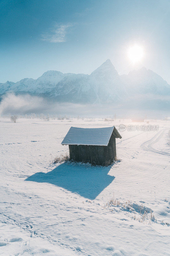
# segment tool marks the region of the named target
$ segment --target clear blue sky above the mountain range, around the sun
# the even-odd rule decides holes
[[[47,70],[90,74],[110,59],[120,74],[145,66],[170,84],[170,1],[0,2],[0,82]],[[132,65],[134,43],[145,49]]]

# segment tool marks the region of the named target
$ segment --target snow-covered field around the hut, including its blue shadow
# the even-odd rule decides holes
[[[0,119],[0,255],[170,255],[170,122],[120,132],[112,166],[50,163],[71,126],[119,124]]]

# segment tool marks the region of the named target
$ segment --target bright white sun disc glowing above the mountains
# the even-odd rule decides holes
[[[129,60],[135,64],[140,62],[144,57],[144,49],[142,46],[135,44],[128,49],[127,52]]]

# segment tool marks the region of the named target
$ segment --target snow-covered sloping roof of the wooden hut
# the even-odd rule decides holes
[[[112,132],[116,138],[122,138],[115,126],[104,128],[71,127],[61,144],[107,146]]]

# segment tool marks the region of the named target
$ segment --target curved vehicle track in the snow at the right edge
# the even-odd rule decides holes
[[[160,151],[160,150],[156,150],[156,149],[152,148],[152,145],[160,140],[162,135],[165,133],[166,129],[163,129],[163,130],[157,132],[157,134],[155,136],[153,136],[153,138],[151,140],[145,141],[140,147],[142,149],[144,149],[145,151],[151,151],[153,153],[170,156],[170,153],[168,153],[168,152]]]

